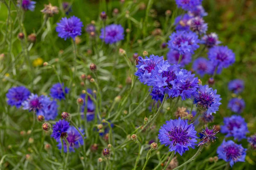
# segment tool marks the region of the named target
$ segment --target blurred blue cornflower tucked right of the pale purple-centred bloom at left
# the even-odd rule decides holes
[[[49,101],[44,102],[43,108],[36,112],[38,115],[43,115],[45,120],[54,120],[58,116],[58,105],[57,102]]]

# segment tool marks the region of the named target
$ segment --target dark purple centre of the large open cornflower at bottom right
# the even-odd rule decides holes
[[[169,131],[167,135],[175,146],[177,143],[182,145],[188,143],[189,136],[187,136],[187,134],[188,132],[185,129],[175,127],[172,131]]]

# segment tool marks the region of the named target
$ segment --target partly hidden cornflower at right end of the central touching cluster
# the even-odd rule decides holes
[[[181,71],[186,75],[185,83],[183,83],[179,89],[181,99],[191,99],[192,96],[195,96],[199,87],[198,78],[195,77],[195,74],[191,74],[191,71],[187,71],[186,69],[181,69]]]

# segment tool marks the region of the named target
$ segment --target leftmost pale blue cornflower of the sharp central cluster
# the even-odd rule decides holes
[[[149,58],[146,56],[145,59],[138,57],[138,65],[136,65],[138,70],[135,75],[139,77],[140,82],[147,84],[150,81],[151,72],[159,62],[163,62],[163,56],[158,57],[152,54]]]

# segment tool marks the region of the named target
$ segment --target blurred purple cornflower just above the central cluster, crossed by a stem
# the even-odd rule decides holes
[[[179,57],[181,57],[180,59],[180,66],[185,66],[188,65],[191,60],[192,60],[192,55],[190,53],[186,53],[186,54],[181,54],[179,51],[176,50],[170,50],[167,54],[167,60],[170,64],[178,64],[179,61]]]

